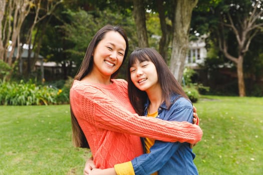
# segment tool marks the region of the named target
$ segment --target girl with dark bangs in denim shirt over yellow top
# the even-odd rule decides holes
[[[152,48],[134,50],[128,64],[130,101],[147,118],[192,122],[193,106],[162,56]],[[146,153],[115,169],[93,169],[89,174],[198,174],[195,154],[187,142],[145,138]],[[116,171],[116,173],[115,173]]]

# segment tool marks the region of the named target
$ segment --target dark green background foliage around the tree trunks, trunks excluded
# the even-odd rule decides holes
[[[14,0],[6,0],[6,4]],[[21,79],[28,81],[29,79],[42,80],[39,69],[34,69],[36,56],[38,54],[44,57],[44,61],[55,61],[62,65],[61,72],[55,74],[51,70],[45,69],[45,80],[48,85],[52,84],[55,80],[66,80],[69,76],[73,77],[78,70],[80,62],[83,59],[86,48],[91,37],[98,30],[107,23],[114,25],[121,25],[127,32],[129,37],[129,52],[138,46],[138,36],[136,33],[136,25],[133,18],[133,0],[49,0],[41,1],[40,11],[38,13],[37,23],[34,24],[35,15],[37,15],[37,5],[35,0],[31,5],[30,13],[24,19],[23,25],[20,31],[20,42],[24,44],[31,44],[34,56],[29,59],[25,59],[23,66],[23,72],[19,70],[19,62],[14,64],[13,68],[5,68],[4,64],[0,62],[0,78],[8,76],[10,72],[13,72],[11,80],[20,82]],[[220,95],[237,95],[237,78],[224,76],[221,73],[221,68],[227,68],[231,62],[226,59],[218,47],[218,38],[216,37],[216,31],[218,24],[220,23],[219,14],[226,14],[229,12],[231,16],[235,16],[234,22],[238,21],[237,17],[242,17],[247,14],[251,4],[258,0],[198,0],[197,5],[193,9],[190,26],[190,39],[198,39],[202,34],[206,34],[206,48],[208,55],[206,62],[202,67],[202,71],[206,74],[199,72],[194,75],[195,83],[202,83],[204,86],[210,87],[210,92]],[[16,0],[16,2],[23,2],[23,0]],[[29,1],[24,1],[29,3]],[[161,2],[163,11],[158,8]],[[169,0],[143,0],[146,27],[149,46],[159,50],[160,40],[162,36],[171,38],[172,28],[172,14],[174,1]],[[189,2],[190,3],[190,2]],[[15,3],[14,3],[15,4]],[[241,6],[241,8],[235,9],[234,7]],[[247,8],[243,8],[243,6]],[[12,10],[11,10],[12,11]],[[159,12],[163,12],[167,31],[163,33],[160,26]],[[22,14],[22,13],[20,13]],[[249,14],[249,13],[248,13]],[[12,14],[13,15],[13,14]],[[3,26],[8,19],[11,19],[11,27],[13,26],[12,18],[3,16]],[[20,16],[19,16],[20,17]],[[262,20],[262,16],[258,18],[258,21]],[[0,18],[1,19],[1,18]],[[34,24],[34,27],[33,27]],[[33,28],[31,28],[33,27]],[[32,29],[32,32],[30,32]],[[3,46],[10,46],[8,35],[9,30],[2,31]],[[13,34],[13,33],[12,33]],[[30,37],[32,34],[32,37]],[[233,32],[229,31],[225,33],[227,39],[229,53],[236,56],[237,54],[237,42]],[[5,37],[5,38],[4,38]],[[249,50],[244,55],[243,72],[245,75],[245,87],[247,95],[262,96],[263,94],[263,57],[262,57],[262,30],[258,32],[257,37],[251,40]],[[31,38],[31,40],[30,40]],[[169,40],[169,39],[168,39]],[[30,43],[29,43],[30,42]],[[164,45],[164,44],[162,44]],[[13,46],[18,46],[13,45]],[[22,46],[22,44],[20,45]],[[165,59],[170,63],[171,57],[171,40],[165,47]],[[27,52],[27,50],[26,50]],[[2,51],[1,51],[2,53]],[[0,54],[1,55],[1,54]],[[1,56],[0,56],[1,57]],[[5,61],[4,61],[5,62]],[[31,64],[31,72],[27,65]],[[126,64],[124,64],[126,65]],[[231,73],[235,74],[235,66],[231,69]],[[207,76],[208,78],[204,79]],[[220,76],[224,76],[221,78]],[[126,78],[126,67],[123,66],[119,77]]]

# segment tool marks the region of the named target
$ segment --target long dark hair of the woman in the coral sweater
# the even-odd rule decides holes
[[[92,40],[90,41],[88,48],[86,50],[84,59],[82,60],[81,66],[79,68],[78,73],[76,74],[74,79],[81,80],[83,77],[85,77],[87,74],[89,74],[93,67],[93,52],[98,45],[98,43],[104,38],[105,34],[109,31],[115,31],[120,33],[120,35],[123,36],[126,42],[126,49],[124,53],[124,58],[122,61],[122,64],[125,61],[125,58],[127,57],[128,49],[129,49],[129,43],[128,43],[128,37],[126,35],[126,32],[123,28],[120,26],[112,26],[112,25],[105,25],[100,30],[97,31],[97,33],[93,36]],[[121,66],[122,66],[121,64]],[[120,66],[120,68],[121,68]],[[111,78],[114,78],[118,72],[120,71],[120,68],[116,70],[112,75]],[[74,116],[74,113],[71,110],[71,123],[72,123],[72,141],[74,146],[76,147],[87,147],[89,148],[88,141],[76,119]]]

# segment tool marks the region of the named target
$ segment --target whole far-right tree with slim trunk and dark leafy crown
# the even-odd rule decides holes
[[[239,95],[245,96],[244,59],[251,41],[263,31],[263,7],[261,0],[201,1],[195,10],[193,27],[201,33],[209,33],[209,39],[234,63],[238,78]],[[203,5],[205,4],[205,5]],[[202,21],[207,21],[202,25]],[[252,49],[252,48],[250,48]],[[260,51],[260,49],[258,50]],[[257,52],[258,53],[258,52]],[[255,57],[259,58],[254,55]]]

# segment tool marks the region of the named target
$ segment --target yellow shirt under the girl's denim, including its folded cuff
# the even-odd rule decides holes
[[[158,116],[158,111],[153,112],[153,113],[147,113],[148,117],[156,117]],[[145,149],[146,153],[150,153],[150,148],[154,144],[155,139],[152,138],[145,138]],[[135,175],[133,166],[131,161],[125,162],[125,163],[119,163],[114,165],[114,169],[118,175]],[[154,172],[151,175],[158,175],[158,172]]]

